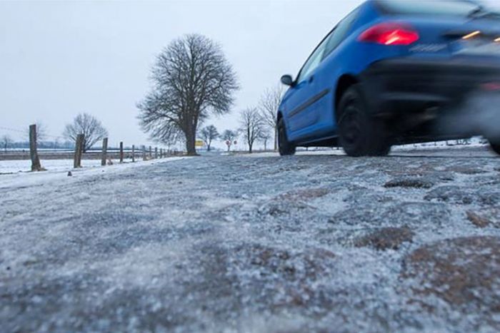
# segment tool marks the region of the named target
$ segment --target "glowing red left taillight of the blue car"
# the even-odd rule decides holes
[[[358,40],[383,45],[410,45],[419,39],[419,33],[407,24],[381,23],[364,31]]]

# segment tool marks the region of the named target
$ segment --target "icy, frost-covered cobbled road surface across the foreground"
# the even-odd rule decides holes
[[[487,150],[108,170],[0,176],[0,331],[500,330]]]

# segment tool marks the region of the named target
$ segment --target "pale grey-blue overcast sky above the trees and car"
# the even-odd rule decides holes
[[[79,112],[97,116],[110,143],[146,142],[135,103],[161,48],[183,34],[219,41],[241,83],[219,130],[241,108],[296,73],[321,38],[361,0],[0,2],[1,127],[42,121],[51,135]],[[20,139],[16,133],[0,128]]]

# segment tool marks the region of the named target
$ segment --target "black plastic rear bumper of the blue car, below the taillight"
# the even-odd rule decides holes
[[[394,58],[374,63],[362,81],[375,113],[426,111],[460,104],[485,85],[500,91],[500,63]]]

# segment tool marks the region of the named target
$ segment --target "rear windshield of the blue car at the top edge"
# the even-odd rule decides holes
[[[479,4],[465,0],[379,0],[378,2],[387,14],[398,15],[469,16],[481,8]]]

